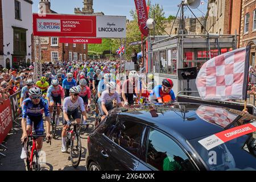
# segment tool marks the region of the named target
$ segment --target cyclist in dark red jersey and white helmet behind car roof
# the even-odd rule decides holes
[[[141,84],[139,82],[139,75],[136,71],[130,71],[128,79],[122,85],[122,98],[125,105],[133,105],[134,98],[137,102],[141,98]]]

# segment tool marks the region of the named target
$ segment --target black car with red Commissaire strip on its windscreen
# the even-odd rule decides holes
[[[256,117],[200,104],[110,111],[88,137],[88,170],[255,170]]]

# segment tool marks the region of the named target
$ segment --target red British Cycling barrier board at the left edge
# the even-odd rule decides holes
[[[3,105],[0,105],[0,144],[5,140],[12,127],[11,102],[6,100]]]

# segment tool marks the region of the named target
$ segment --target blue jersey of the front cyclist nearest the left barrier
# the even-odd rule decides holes
[[[43,97],[40,98],[40,102],[37,105],[33,104],[31,98],[27,98],[23,101],[22,106],[22,118],[27,118],[27,115],[32,117],[43,117],[43,113],[46,117],[49,117],[48,102]]]

